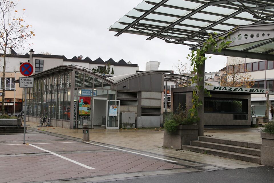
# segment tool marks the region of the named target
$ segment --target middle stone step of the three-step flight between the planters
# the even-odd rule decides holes
[[[253,156],[261,155],[260,149],[246,148],[246,147],[242,147],[242,146],[232,146],[232,145],[227,145],[227,144],[217,144],[217,143],[213,143],[213,142],[204,142],[204,141],[191,141],[190,145],[204,147],[204,148],[210,148],[210,149],[229,151],[229,152],[237,152],[237,153],[241,153],[241,154],[249,154],[249,155],[253,155]]]

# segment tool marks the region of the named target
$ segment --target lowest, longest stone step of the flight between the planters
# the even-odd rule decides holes
[[[199,153],[203,153],[203,154],[210,154],[210,155],[214,155],[214,156],[220,156],[220,157],[224,157],[224,158],[230,158],[230,159],[242,160],[242,161],[260,164],[259,156],[240,154],[237,152],[228,152],[228,151],[223,151],[223,150],[197,147],[197,146],[191,146],[191,145],[182,146],[182,149],[188,150],[188,151],[193,151],[193,152],[199,152]]]

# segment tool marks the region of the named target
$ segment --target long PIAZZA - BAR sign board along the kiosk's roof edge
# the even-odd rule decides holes
[[[222,91],[222,92],[244,92],[252,94],[268,94],[269,89],[258,88],[241,88],[241,87],[228,87],[228,86],[205,86],[208,91]]]

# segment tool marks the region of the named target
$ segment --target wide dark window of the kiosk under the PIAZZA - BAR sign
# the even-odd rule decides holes
[[[205,113],[247,114],[247,99],[205,98]]]

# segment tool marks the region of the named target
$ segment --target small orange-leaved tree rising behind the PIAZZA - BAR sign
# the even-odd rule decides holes
[[[233,58],[232,65],[227,65],[227,73],[221,76],[220,85],[250,88],[254,81],[251,74],[246,72],[244,63],[239,63]]]

